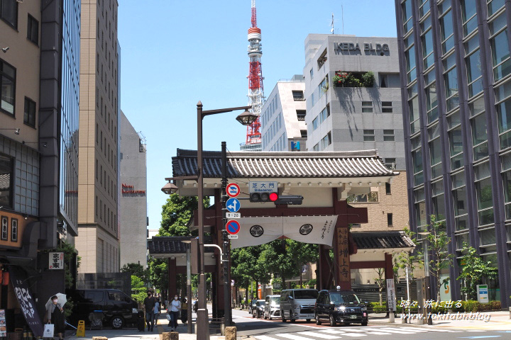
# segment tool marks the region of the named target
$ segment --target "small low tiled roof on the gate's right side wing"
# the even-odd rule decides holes
[[[415,244],[405,232],[351,232],[358,249],[410,248]]]

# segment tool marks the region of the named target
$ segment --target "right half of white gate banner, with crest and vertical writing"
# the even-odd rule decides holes
[[[283,234],[285,237],[297,242],[332,245],[337,215],[283,218]]]

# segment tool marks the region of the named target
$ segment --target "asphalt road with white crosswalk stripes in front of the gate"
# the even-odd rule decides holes
[[[413,324],[385,324],[370,322],[367,327],[360,325],[330,327],[318,326],[314,322],[298,320],[295,323],[281,322],[280,319],[253,319],[246,310],[233,310],[238,336],[256,340],[462,340],[462,339],[511,339],[510,331],[473,331],[466,329],[441,329],[417,327]]]

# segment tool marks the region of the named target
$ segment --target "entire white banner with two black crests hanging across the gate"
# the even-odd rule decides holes
[[[293,217],[242,217],[238,239],[231,239],[232,248],[258,246],[281,236],[297,242],[331,246],[337,215]]]

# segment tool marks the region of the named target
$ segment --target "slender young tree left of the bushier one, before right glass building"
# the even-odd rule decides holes
[[[452,265],[453,254],[449,254],[447,246],[451,242],[451,237],[445,232],[444,222],[436,221],[436,216],[431,215],[430,232],[427,234],[429,253],[432,259],[429,259],[429,273],[436,280],[436,300],[440,301],[440,287],[444,283],[449,282],[449,277],[442,280],[440,274],[444,269],[448,269]]]

